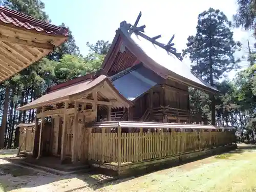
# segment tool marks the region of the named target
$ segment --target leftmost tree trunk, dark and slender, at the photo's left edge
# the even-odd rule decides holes
[[[6,126],[7,126],[9,94],[10,94],[10,88],[7,87],[6,91],[5,91],[4,110],[3,110],[2,124],[1,124],[1,129],[0,129],[0,148],[5,147],[5,130],[6,130]]]

